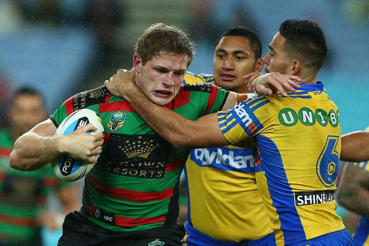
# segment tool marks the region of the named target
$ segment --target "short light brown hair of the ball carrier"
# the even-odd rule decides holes
[[[165,52],[171,55],[185,54],[188,64],[192,62],[194,44],[189,40],[187,33],[174,26],[162,23],[151,25],[144,31],[135,45],[135,52],[141,56],[142,64]]]

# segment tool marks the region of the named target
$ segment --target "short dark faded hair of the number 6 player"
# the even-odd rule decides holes
[[[286,41],[284,49],[290,58],[303,62],[308,69],[318,72],[327,60],[328,45],[322,29],[313,21],[289,19],[279,27]]]

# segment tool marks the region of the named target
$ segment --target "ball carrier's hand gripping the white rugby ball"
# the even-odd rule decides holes
[[[96,149],[104,143],[103,133],[91,135],[88,131],[96,131],[97,128],[91,123],[78,128],[77,130],[61,137],[62,150],[65,154],[69,154],[72,158],[87,160],[95,163],[95,159],[91,155],[101,154],[102,149]]]

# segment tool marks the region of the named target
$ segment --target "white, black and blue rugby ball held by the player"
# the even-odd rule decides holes
[[[80,109],[71,113],[67,118],[65,118],[59,125],[55,135],[68,135],[69,133],[75,131],[76,129],[85,126],[88,123],[92,123],[93,126],[97,128],[96,131],[88,132],[91,135],[95,135],[104,132],[104,127],[101,124],[101,119],[96,115],[96,113],[90,109]],[[76,146],[75,148],[78,148]],[[98,149],[100,149],[98,147]],[[99,157],[99,154],[92,155],[91,157],[95,160]],[[51,161],[51,166],[55,175],[66,182],[73,182],[85,177],[88,174],[94,163],[88,161],[74,159],[67,154],[60,156],[59,158]]]

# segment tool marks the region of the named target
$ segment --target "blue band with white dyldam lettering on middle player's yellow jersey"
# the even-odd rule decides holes
[[[196,149],[191,159],[198,166],[212,166],[221,170],[255,172],[254,158],[249,149],[212,148]]]

